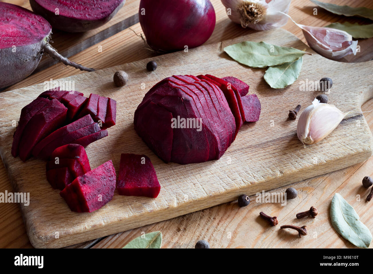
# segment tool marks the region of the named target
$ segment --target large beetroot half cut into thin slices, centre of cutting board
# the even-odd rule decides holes
[[[229,80],[239,88],[213,75],[174,75],[163,79],[138,105],[134,115],[136,132],[166,163],[219,159],[242,124],[257,121],[260,115],[255,94],[241,97],[248,85],[236,78]],[[202,119],[201,131],[173,128],[171,119],[176,117]]]

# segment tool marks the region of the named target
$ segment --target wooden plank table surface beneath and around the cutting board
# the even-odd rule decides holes
[[[26,0],[6,0],[6,2],[31,9],[29,2]],[[127,0],[122,8],[126,9],[124,13],[122,12],[122,15],[126,14],[129,17],[137,13],[139,2],[139,0]],[[206,42],[207,44],[254,32],[251,29],[244,29],[232,23],[226,16],[225,8],[220,0],[211,0],[211,2],[216,12],[216,26],[212,36]],[[371,0],[329,0],[328,2],[339,5],[347,4],[354,7],[365,6],[373,9],[373,1]],[[292,16],[295,22],[311,26],[325,26],[332,22],[345,21],[372,23],[366,19],[333,15],[321,8],[317,9],[317,15],[313,15],[315,7],[308,0],[293,0],[289,15]],[[113,20],[115,19],[114,17]],[[290,20],[283,28],[305,42],[302,31]],[[141,32],[140,24],[137,23],[131,26],[131,29],[125,29],[75,54],[70,59],[88,67],[105,68],[155,56],[155,53],[144,48],[141,38],[135,35],[135,33],[140,34]],[[53,44],[57,50],[68,48],[69,43],[79,42],[79,39],[84,37],[84,35],[81,38],[75,36],[72,39],[68,33],[64,34],[61,32],[57,33],[57,35],[56,41],[58,42]],[[62,39],[60,36],[62,36]],[[63,39],[64,37],[65,39]],[[101,53],[98,53],[98,46],[102,46],[103,51]],[[54,64],[6,90],[34,85],[48,81],[50,78],[59,79],[78,73],[82,72],[66,67],[63,64]],[[353,81],[353,79],[351,80]],[[362,110],[373,110],[373,100],[366,102]],[[372,130],[373,112],[364,113],[364,116]],[[330,201],[334,193],[339,192],[355,208],[360,220],[372,230],[373,214],[369,208],[370,205],[365,202],[365,197],[369,190],[361,187],[361,179],[364,176],[373,176],[373,157],[364,163],[294,184],[293,187],[298,190],[298,197],[294,200],[289,200],[285,207],[280,204],[257,203],[255,202],[255,196],[253,196],[251,197],[250,205],[245,208],[239,208],[237,202],[233,201],[72,247],[121,248],[130,240],[140,236],[141,232],[148,233],[160,230],[163,234],[163,248],[193,248],[195,242],[199,239],[208,240],[211,248],[352,248],[354,246],[336,233],[331,226],[329,218]],[[285,189],[286,187],[273,191],[283,192]],[[6,190],[13,192],[6,170],[1,162],[0,192],[5,192]],[[360,196],[361,199],[359,199]],[[312,220],[295,219],[297,212],[307,210],[312,205],[319,209],[320,214],[317,218]],[[0,248],[32,248],[18,205],[2,203],[0,208]],[[297,234],[281,231],[279,227],[269,227],[263,220],[258,218],[260,211],[272,216],[278,216],[280,224],[306,224],[310,227],[311,232],[308,236],[299,239]],[[320,235],[327,235],[328,237],[320,237]],[[318,240],[318,238],[327,240]]]

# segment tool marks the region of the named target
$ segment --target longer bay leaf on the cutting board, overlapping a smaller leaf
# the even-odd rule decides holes
[[[306,52],[291,47],[279,47],[266,42],[239,42],[224,48],[238,63],[249,67],[277,66],[294,62]],[[309,54],[309,53],[307,53]]]

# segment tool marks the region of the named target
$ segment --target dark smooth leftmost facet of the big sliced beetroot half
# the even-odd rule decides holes
[[[150,117],[157,117],[157,123]],[[137,113],[135,129],[138,135],[163,161],[171,160],[173,129],[172,113],[159,105],[150,102]]]

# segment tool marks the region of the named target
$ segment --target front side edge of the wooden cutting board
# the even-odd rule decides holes
[[[277,181],[273,182],[273,185],[271,185],[270,188],[266,189],[273,190],[277,188],[282,188],[283,186],[291,185],[297,182],[300,182],[302,180],[311,180],[314,177],[320,176],[322,174],[327,174],[332,171],[344,169],[346,167],[352,166],[357,163],[361,163],[363,161],[368,160],[373,155],[373,138],[371,136],[370,138],[370,146],[368,146],[369,149],[362,150],[360,153],[353,155],[353,157],[349,157],[348,161],[345,161],[346,158],[339,158],[334,161],[330,161],[327,166],[320,165],[316,166],[316,168],[309,167],[307,170],[304,170],[303,172],[297,172],[296,175],[292,177],[290,180],[287,178],[274,178],[269,180],[269,184],[272,184],[271,181]],[[305,174],[312,174],[312,175],[305,175]],[[286,182],[286,183],[284,183]],[[111,222],[110,226],[112,226],[111,229],[107,229],[107,226],[103,225],[102,229],[92,228],[92,231],[88,230],[84,233],[73,233],[73,234],[67,234],[66,239],[64,237],[61,237],[59,239],[51,239],[51,235],[45,235],[45,234],[39,234],[38,229],[35,225],[31,225],[33,222],[32,219],[29,219],[27,216],[27,213],[23,215],[22,217],[23,221],[26,224],[26,232],[29,237],[29,240],[35,248],[62,248],[65,246],[70,246],[76,243],[82,243],[88,240],[97,239],[99,237],[106,237],[111,234],[127,231],[130,229],[135,229],[138,227],[142,227],[148,224],[157,223],[164,220],[169,220],[181,215],[185,215],[191,212],[203,210],[209,207],[214,207],[216,205],[220,205],[226,202],[234,201],[239,195],[242,193],[249,193],[249,196],[253,196],[256,193],[260,193],[263,190],[262,184],[250,184],[245,188],[234,188],[226,191],[223,195],[217,193],[216,198],[211,201],[207,199],[207,197],[200,199],[199,201],[189,201],[188,203],[176,205],[175,207],[169,207],[166,209],[162,209],[159,211],[152,211],[147,212],[148,215],[144,219],[144,215],[136,215],[131,216],[131,223],[128,224],[127,220],[119,220],[116,222]],[[220,197],[219,197],[220,196]],[[189,204],[190,209],[189,209]],[[22,207],[23,205],[20,205]],[[197,209],[196,209],[197,208]],[[154,215],[154,216],[153,216]],[[167,215],[169,218],[165,219],[163,215]],[[142,221],[137,222],[137,219],[140,219]],[[127,224],[126,224],[127,223]],[[30,224],[30,225],[29,225]],[[42,226],[44,227],[44,226]],[[84,236],[84,237],[82,237]]]

